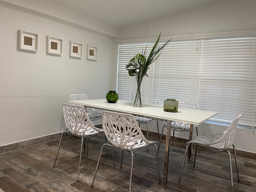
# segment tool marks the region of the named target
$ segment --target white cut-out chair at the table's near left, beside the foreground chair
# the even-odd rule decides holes
[[[81,137],[81,149],[80,149],[80,158],[79,158],[79,166],[78,166],[78,176],[77,176],[77,181],[78,181],[79,174],[80,174],[82,148],[83,148],[84,139],[100,134],[103,132],[103,130],[100,128],[94,127],[85,109],[82,106],[72,105],[72,104],[62,104],[62,106],[63,106],[64,120],[67,126],[67,131],[62,132],[60,136],[60,142],[59,142],[53,167],[55,167],[55,164],[56,164],[63,134],[68,132],[69,134]],[[88,150],[88,147],[87,147],[87,150]]]

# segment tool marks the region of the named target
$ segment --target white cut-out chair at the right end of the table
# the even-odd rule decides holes
[[[232,176],[232,164],[231,164],[231,154],[228,150],[228,148],[230,148],[230,146],[233,146],[234,149],[234,156],[235,156],[235,162],[236,162],[236,174],[237,174],[237,180],[239,182],[239,173],[238,173],[238,165],[237,165],[237,161],[236,161],[236,149],[235,146],[233,144],[234,141],[234,137],[235,137],[235,133],[236,133],[236,127],[238,125],[238,122],[241,118],[241,114],[238,115],[237,118],[235,118],[232,123],[230,124],[228,130],[219,133],[219,134],[201,134],[196,136],[194,139],[192,139],[191,141],[187,142],[187,146],[186,146],[186,150],[185,150],[185,154],[184,154],[184,158],[183,158],[183,162],[182,162],[182,168],[180,171],[180,178],[179,178],[179,183],[181,180],[181,176],[182,176],[182,172],[183,172],[183,168],[184,168],[184,162],[185,162],[185,158],[186,158],[186,153],[188,151],[188,146],[191,144],[195,144],[196,145],[196,152],[197,152],[197,148],[198,146],[201,146],[203,148],[207,148],[213,151],[217,151],[217,152],[227,152],[228,156],[229,156],[229,167],[230,167],[230,181],[231,181],[231,191],[234,191],[233,188],[233,176]],[[195,152],[195,158],[194,158],[194,167],[196,164],[196,152]]]

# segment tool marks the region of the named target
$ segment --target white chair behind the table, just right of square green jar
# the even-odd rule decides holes
[[[196,109],[200,110],[199,105],[196,103],[188,103],[188,102],[179,102],[178,104],[179,108],[187,108],[187,109]],[[167,122],[164,123],[164,127],[162,129],[162,133],[159,139],[159,146],[158,150],[160,148],[161,140],[162,140],[162,134],[164,132],[164,128],[167,127]],[[194,125],[194,128],[196,128],[196,135],[198,135],[197,132],[197,126]],[[172,135],[172,146],[173,146],[173,141],[174,141],[174,132],[175,131],[181,131],[181,132],[190,132],[190,123],[184,123],[184,122],[178,122],[178,121],[173,121],[171,123],[171,130],[173,130],[173,135]]]

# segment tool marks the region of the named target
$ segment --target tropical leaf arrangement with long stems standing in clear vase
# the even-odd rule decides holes
[[[157,58],[162,53],[162,50],[168,45],[170,40],[168,40],[166,43],[164,43],[161,47],[158,46],[158,42],[160,40],[161,33],[159,34],[154,46],[152,47],[152,50],[150,51],[150,54],[148,57],[146,56],[146,49],[147,46],[142,54],[138,53],[132,58],[128,64],[126,64],[126,70],[128,70],[128,73],[130,76],[135,76],[136,82],[137,82],[137,88],[136,88],[136,95],[134,98],[132,98],[132,106],[139,106],[142,107],[144,105],[144,102],[141,98],[140,94],[140,88],[142,84],[142,79],[144,76],[147,76],[147,71],[149,69],[150,64],[154,63]]]

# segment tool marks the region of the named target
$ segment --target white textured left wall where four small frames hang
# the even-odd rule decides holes
[[[86,93],[91,99],[104,98],[111,89],[116,28],[111,32],[111,26],[101,26],[97,21],[95,25],[86,26],[86,18],[73,13],[81,29],[74,28],[70,26],[72,19],[65,25],[53,21],[52,17],[48,20],[45,14],[41,17],[38,12],[26,13],[31,5],[37,4],[24,4],[23,9],[0,1],[0,146],[65,130],[62,103],[69,100],[70,94]],[[40,7],[39,3],[38,9]],[[44,8],[47,10],[47,4]],[[66,11],[55,12],[63,19],[61,16]],[[74,26],[77,26],[75,22]],[[38,52],[18,49],[20,29],[38,34]],[[63,40],[61,56],[46,54],[46,36]],[[84,45],[82,59],[68,56],[70,40]],[[86,60],[86,44],[98,47],[97,62]],[[51,97],[25,98],[21,94],[51,94]]]

